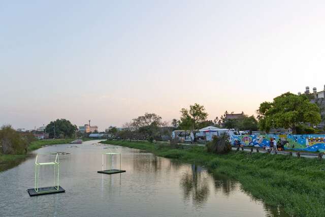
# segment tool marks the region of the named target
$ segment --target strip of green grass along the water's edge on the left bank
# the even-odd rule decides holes
[[[37,141],[32,141],[27,147],[27,153],[25,154],[0,154],[0,165],[6,165],[11,162],[15,161],[21,161],[25,159],[28,154],[31,151],[34,151],[36,149],[39,149],[41,147],[47,146],[47,145],[60,145],[60,144],[68,144],[75,139],[45,139],[45,140],[37,140]],[[88,141],[90,139],[83,139],[83,141]],[[0,168],[0,172],[3,171]]]

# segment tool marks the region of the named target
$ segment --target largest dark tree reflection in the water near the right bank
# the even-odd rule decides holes
[[[209,184],[207,177],[201,173],[202,168],[192,164],[191,171],[182,174],[180,187],[183,190],[183,200],[189,201],[197,208],[204,206],[209,197]]]

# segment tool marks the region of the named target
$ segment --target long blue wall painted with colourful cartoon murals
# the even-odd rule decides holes
[[[263,134],[263,135],[231,135],[231,144],[234,145],[239,140],[243,146],[269,147],[270,139],[275,139],[284,144],[284,149],[321,151],[325,152],[325,135],[308,134]]]

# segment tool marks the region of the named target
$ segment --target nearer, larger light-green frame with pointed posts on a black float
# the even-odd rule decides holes
[[[53,166],[54,167],[54,185],[53,187],[39,188],[40,182],[40,167],[43,166]],[[54,162],[40,163],[39,156],[36,156],[35,160],[35,186],[34,189],[28,189],[27,192],[30,196],[37,196],[42,194],[53,194],[65,192],[59,185],[59,170],[60,162],[58,153],[56,153]]]

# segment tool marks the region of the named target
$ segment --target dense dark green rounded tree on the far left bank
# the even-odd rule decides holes
[[[78,130],[76,125],[72,125],[69,120],[56,119],[51,121],[45,128],[46,132],[49,133],[50,138],[72,138],[75,132]],[[54,137],[55,133],[55,137]]]

